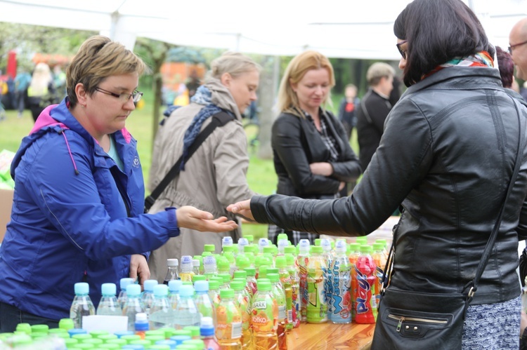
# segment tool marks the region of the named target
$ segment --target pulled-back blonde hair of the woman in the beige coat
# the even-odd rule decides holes
[[[247,72],[260,72],[261,66],[254,62],[251,58],[241,53],[227,51],[219,58],[216,58],[211,63],[210,76],[215,79],[220,79],[225,73],[230,74],[233,78],[245,74]]]

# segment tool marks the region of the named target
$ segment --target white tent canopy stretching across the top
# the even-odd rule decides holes
[[[514,23],[527,16],[527,0],[464,1],[503,48]],[[129,48],[147,37],[266,55],[313,49],[333,58],[398,60],[393,20],[408,2],[0,0],[0,22],[89,29]]]

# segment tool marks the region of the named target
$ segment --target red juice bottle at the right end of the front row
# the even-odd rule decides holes
[[[375,323],[377,319],[375,262],[371,253],[371,245],[360,245],[360,256],[355,267],[357,273],[356,323]]]

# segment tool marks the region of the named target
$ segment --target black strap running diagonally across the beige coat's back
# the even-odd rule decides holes
[[[227,112],[222,111],[222,112],[218,112],[214,114],[212,116],[212,121],[209,123],[209,125],[207,125],[207,127],[205,127],[200,132],[200,134],[197,135],[193,144],[191,144],[190,147],[188,148],[188,155],[185,161],[188,161],[188,159],[190,159],[190,157],[201,146],[204,140],[207,139],[207,137],[209,137],[210,134],[212,134],[215,128],[219,126],[224,126],[226,123],[232,120],[234,120],[234,116],[228,114]],[[182,161],[183,161],[183,155],[179,157],[178,161],[176,161],[174,166],[172,166],[172,168],[169,170],[167,175],[164,175],[163,180],[161,180],[161,182],[157,184],[157,186],[152,191],[150,196],[147,196],[145,198],[145,213],[148,213],[148,210],[150,210],[150,208],[152,208],[152,206],[154,205],[155,200],[159,198],[159,196],[163,193],[164,189],[167,188],[169,183],[172,180],[174,180],[176,176],[179,174],[180,172],[179,167],[181,166]]]

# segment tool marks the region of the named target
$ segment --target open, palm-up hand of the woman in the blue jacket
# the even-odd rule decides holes
[[[236,222],[228,220],[227,217],[222,216],[214,219],[214,216],[211,213],[199,210],[192,206],[177,208],[176,218],[178,220],[178,227],[195,229],[202,232],[233,231],[233,229],[238,227]]]

